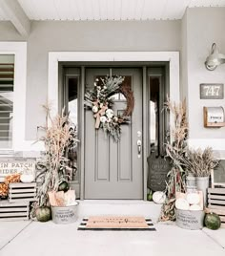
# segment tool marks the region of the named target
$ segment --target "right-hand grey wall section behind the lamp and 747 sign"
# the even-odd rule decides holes
[[[204,62],[215,42],[219,52],[225,53],[225,8],[188,9],[183,18],[184,61],[181,63],[185,95],[188,98],[190,144],[194,147],[213,146],[225,157],[225,127],[204,128],[203,106],[223,106],[225,99],[200,99],[200,83],[225,83],[225,65],[208,71]],[[185,39],[186,37],[186,39]]]

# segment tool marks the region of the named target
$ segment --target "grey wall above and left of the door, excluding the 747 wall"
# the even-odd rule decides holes
[[[3,41],[21,40],[9,24],[6,30],[0,27],[0,34]],[[26,139],[35,139],[37,126],[44,123],[41,105],[47,101],[49,52],[179,50],[180,21],[32,22],[28,38]]]

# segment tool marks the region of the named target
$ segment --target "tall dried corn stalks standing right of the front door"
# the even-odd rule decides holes
[[[182,160],[185,154],[186,139],[188,138],[188,119],[186,100],[180,103],[172,102],[169,98],[165,103],[165,110],[170,112],[170,115],[174,117],[174,126],[172,129],[173,141],[167,140],[165,145],[166,158],[170,158],[172,161],[172,169],[168,173],[169,181],[167,182],[166,203],[163,204],[161,221],[174,221],[174,203],[175,193],[185,192],[185,177],[186,171],[183,168]]]

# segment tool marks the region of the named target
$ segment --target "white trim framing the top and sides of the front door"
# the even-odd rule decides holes
[[[176,102],[180,98],[178,52],[51,52],[49,53],[48,101],[51,104],[52,116],[58,111],[59,61],[169,61],[170,97]]]

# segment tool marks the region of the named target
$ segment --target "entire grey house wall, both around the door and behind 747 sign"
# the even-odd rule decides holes
[[[28,42],[26,139],[35,139],[37,126],[45,121],[41,105],[47,101],[49,52],[179,51],[180,89],[182,98],[187,98],[190,144],[210,145],[225,152],[225,128],[204,128],[202,112],[203,106],[224,106],[225,100],[199,98],[200,83],[225,81],[225,65],[214,72],[204,66],[214,42],[225,53],[224,24],[225,8],[194,8],[188,9],[181,21],[32,22],[26,39],[10,22],[1,21],[0,41]]]

